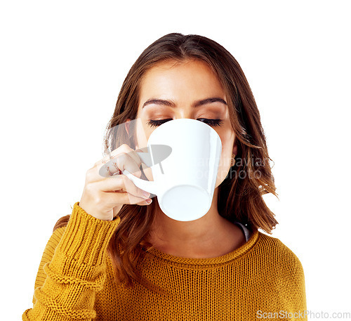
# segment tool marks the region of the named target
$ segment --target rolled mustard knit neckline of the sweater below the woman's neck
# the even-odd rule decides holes
[[[250,251],[253,246],[256,244],[259,238],[259,232],[258,230],[255,230],[249,240],[241,245],[241,247],[238,247],[237,249],[234,249],[234,251],[231,251],[227,254],[223,254],[222,256],[217,256],[214,258],[183,258],[180,256],[173,256],[171,254],[166,254],[163,251],[160,251],[159,249],[156,249],[152,247],[151,249],[145,250],[147,254],[151,254],[154,258],[157,258],[158,260],[163,261],[166,264],[171,264],[173,266],[180,266],[180,267],[189,267],[189,266],[197,266],[199,267],[209,267],[209,266],[218,266],[218,265],[223,265],[224,263],[229,263],[230,261],[233,261],[244,254],[246,254],[248,251]]]

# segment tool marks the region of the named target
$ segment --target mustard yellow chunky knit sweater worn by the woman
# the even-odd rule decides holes
[[[119,221],[99,220],[74,204],[67,226],[46,244],[33,307],[22,320],[307,320],[303,267],[276,238],[256,230],[216,258],[145,251],[137,268],[164,295],[138,282],[131,289],[114,283],[106,248]]]

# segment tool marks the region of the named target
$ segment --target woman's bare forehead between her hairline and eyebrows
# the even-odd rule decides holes
[[[140,81],[140,97],[149,95],[224,94],[211,67],[201,60],[166,60],[147,70]]]

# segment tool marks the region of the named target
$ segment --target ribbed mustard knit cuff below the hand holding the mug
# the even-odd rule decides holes
[[[69,261],[73,260],[71,263],[75,266],[100,266],[107,245],[120,221],[119,216],[114,221],[95,218],[79,207],[77,202],[56,251],[69,258]]]

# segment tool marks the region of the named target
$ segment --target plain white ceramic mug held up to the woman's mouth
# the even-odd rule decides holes
[[[124,175],[157,195],[159,207],[170,218],[193,221],[204,216],[211,207],[222,153],[218,133],[195,119],[173,119],[151,133],[147,150],[138,155],[151,167],[154,181],[126,169]]]

